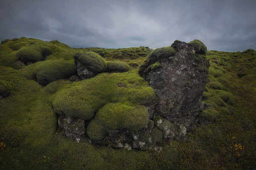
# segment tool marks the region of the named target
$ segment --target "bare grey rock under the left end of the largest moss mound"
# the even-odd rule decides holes
[[[81,135],[85,133],[85,123],[83,119],[59,116],[58,125],[61,127],[67,137],[80,142]]]

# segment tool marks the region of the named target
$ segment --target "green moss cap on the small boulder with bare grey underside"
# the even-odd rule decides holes
[[[81,61],[87,68],[94,72],[105,71],[107,68],[105,59],[92,51],[76,53],[74,58]]]

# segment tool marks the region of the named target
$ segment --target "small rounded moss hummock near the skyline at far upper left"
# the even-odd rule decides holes
[[[17,58],[24,62],[38,62],[43,60],[42,51],[37,46],[26,46],[17,51]]]

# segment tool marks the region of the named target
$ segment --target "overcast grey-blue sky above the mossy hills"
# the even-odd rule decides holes
[[[33,37],[71,47],[170,46],[256,50],[256,0],[0,0],[0,40]]]

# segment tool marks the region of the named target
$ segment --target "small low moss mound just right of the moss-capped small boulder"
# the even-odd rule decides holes
[[[125,62],[121,62],[121,61],[107,61],[107,72],[126,72],[131,70],[131,67],[125,63]]]

